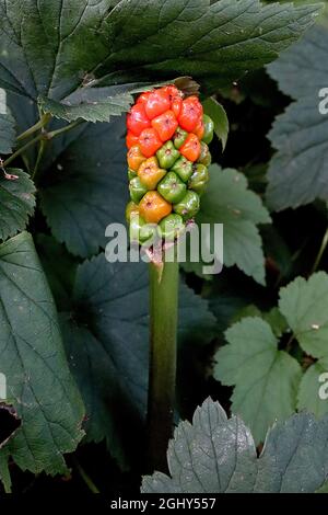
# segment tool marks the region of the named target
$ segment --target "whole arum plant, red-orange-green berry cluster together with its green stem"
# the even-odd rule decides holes
[[[148,458],[150,467],[165,469],[176,382],[179,273],[174,249],[200,207],[214,124],[196,94],[171,84],[140,94],[127,128],[127,220],[132,241],[145,243],[150,255]]]

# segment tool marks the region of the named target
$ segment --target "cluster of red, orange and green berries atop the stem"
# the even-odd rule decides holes
[[[175,85],[142,93],[127,117],[130,230],[140,243],[174,240],[199,210],[209,180],[213,122]]]

